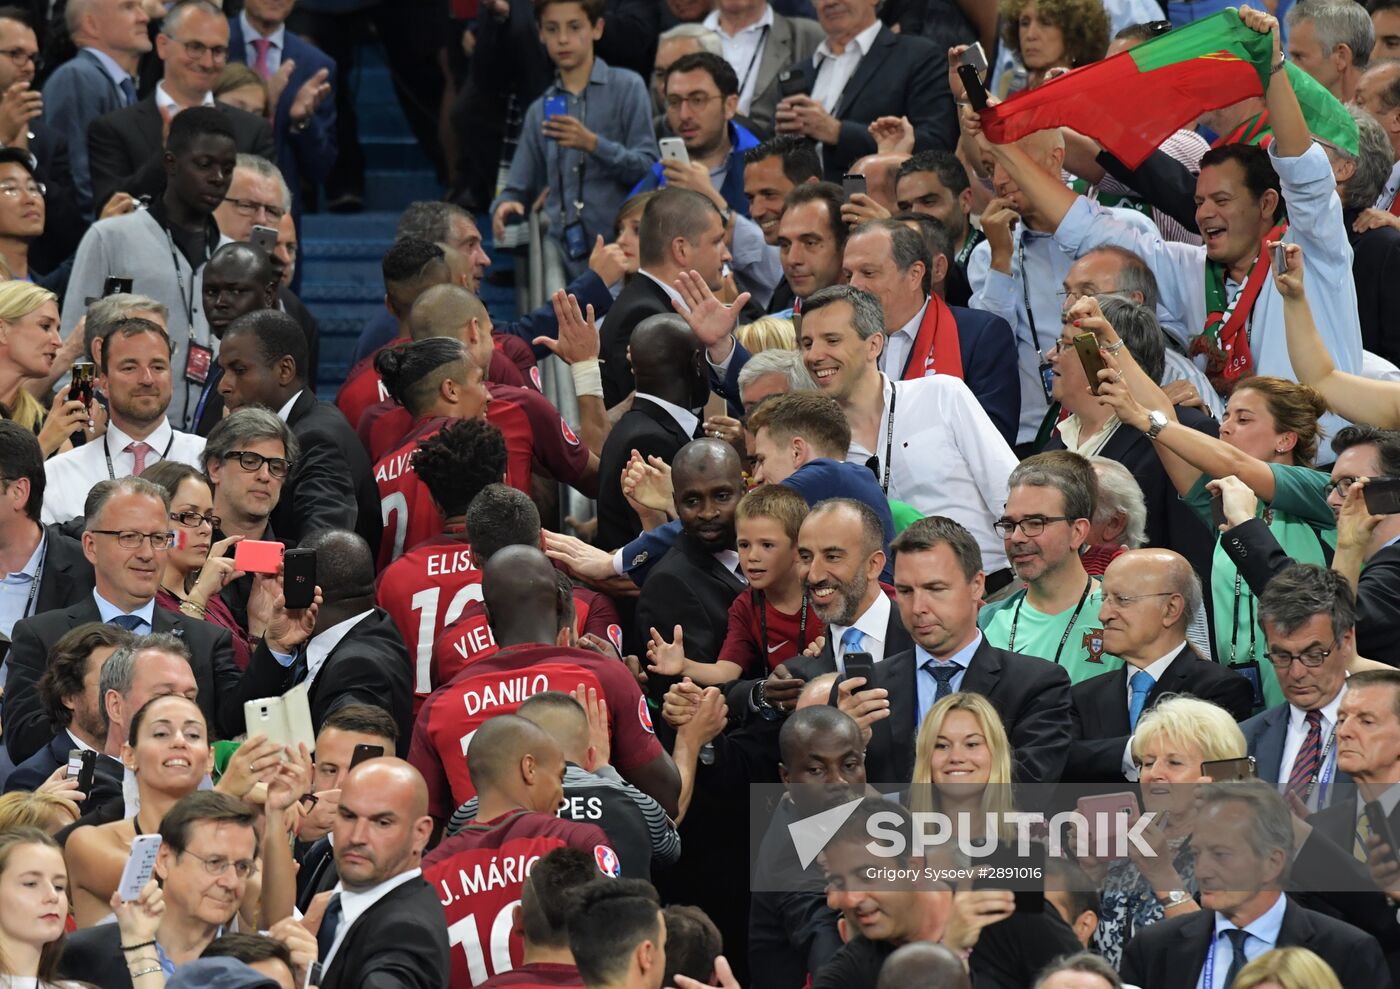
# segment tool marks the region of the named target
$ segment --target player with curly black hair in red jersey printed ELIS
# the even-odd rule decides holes
[[[434,640],[469,601],[482,598],[480,573],[466,539],[466,506],[505,475],[505,440],[490,423],[458,419],[419,443],[412,466],[444,517],[442,528],[379,573],[375,597],[413,657],[416,714],[433,689],[428,667]]]

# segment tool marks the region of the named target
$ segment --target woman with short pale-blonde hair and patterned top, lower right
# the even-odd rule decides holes
[[[1138,721],[1128,742],[1140,768],[1142,810],[1158,817],[1144,831],[1151,857],[1131,855],[1107,863],[1081,859],[1091,876],[1102,877],[1099,926],[1093,950],[1116,968],[1133,934],[1163,918],[1198,911],[1196,904],[1196,783],[1208,783],[1201,763],[1239,759],[1245,735],[1224,707],[1184,695],[1163,698]]]

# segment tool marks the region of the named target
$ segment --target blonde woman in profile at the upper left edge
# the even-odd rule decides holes
[[[45,409],[25,387],[49,380],[62,346],[57,297],[28,282],[0,282],[0,419],[34,430],[45,457],[88,424],[87,408],[70,402],[66,388]]]

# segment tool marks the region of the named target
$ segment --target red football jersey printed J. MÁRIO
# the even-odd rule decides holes
[[[599,873],[622,874],[602,828],[525,810],[473,821],[423,857],[423,878],[447,913],[451,989],[479,986],[521,964],[525,946],[512,915],[531,869],[557,848],[588,852]]]

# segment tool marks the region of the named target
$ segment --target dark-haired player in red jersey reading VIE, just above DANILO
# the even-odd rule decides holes
[[[504,546],[539,546],[539,509],[526,494],[490,485],[482,489],[466,509],[468,542],[476,566],[491,559]],[[477,572],[475,583],[482,583]],[[574,584],[574,632],[591,642],[602,642],[622,656],[622,618],[612,600],[582,584]],[[461,618],[448,625],[433,643],[430,678],[437,688],[462,671],[462,667],[496,653],[496,639],[486,621],[480,594],[466,602]]]

